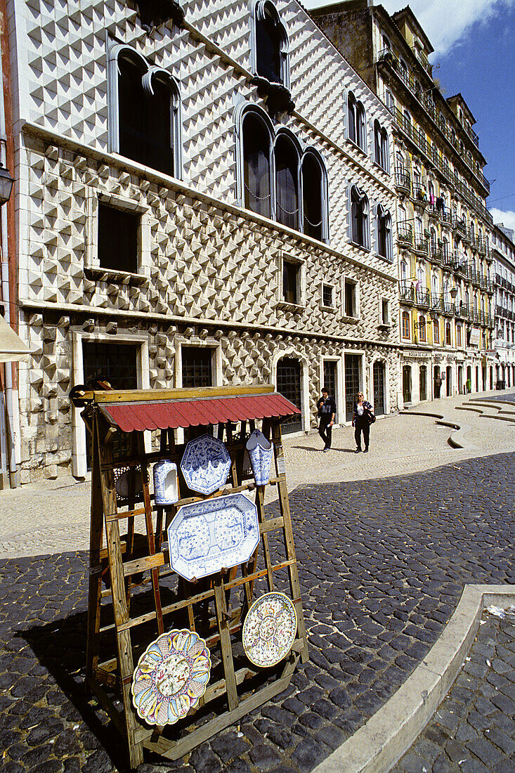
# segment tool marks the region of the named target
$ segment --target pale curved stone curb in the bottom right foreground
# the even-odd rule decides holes
[[[452,618],[414,673],[367,724],[312,773],[387,773],[445,698],[476,638],[483,609],[515,604],[511,585],[466,585]]]

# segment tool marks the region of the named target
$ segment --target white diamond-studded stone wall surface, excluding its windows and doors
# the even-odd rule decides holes
[[[171,25],[148,35],[125,0],[9,2],[9,29],[16,24],[17,46],[23,46],[14,46],[12,36],[15,122],[42,129],[39,137],[23,131],[16,154],[20,332],[34,349],[30,368],[20,366],[24,480],[70,464],[76,430],[67,393],[80,379],[74,346],[85,333],[145,342],[152,387],[175,385],[179,339],[217,342],[224,384],[270,382],[278,356],[298,356],[306,363],[306,428],[322,358],[360,350],[367,377],[374,359],[386,364],[388,403],[396,407],[397,329],[379,329],[378,322],[382,298],[397,318],[397,261],[387,264],[373,250],[353,247],[347,231],[351,185],[367,192],[371,218],[374,203],[393,213],[395,199],[390,178],[344,138],[346,89],[367,109],[369,147],[374,117],[385,124],[387,112],[295,2],[278,8],[290,38],[299,114],[283,123],[326,160],[330,248],[234,207],[234,106],[242,98],[262,101],[244,74],[209,46]],[[186,19],[251,67],[246,3],[192,2]],[[163,175],[147,179],[109,154],[106,32],[179,82],[186,187]],[[98,196],[144,213],[148,257],[140,276],[121,278],[91,261]],[[304,266],[299,308],[281,302],[283,257]],[[344,278],[359,287],[357,320],[343,315]],[[334,310],[322,308],[327,282],[334,286]]]

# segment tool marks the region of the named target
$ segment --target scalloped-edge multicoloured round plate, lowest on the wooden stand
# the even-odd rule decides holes
[[[206,692],[211,659],[203,638],[174,629],[147,647],[132,680],[132,702],[148,724],[174,724]]]

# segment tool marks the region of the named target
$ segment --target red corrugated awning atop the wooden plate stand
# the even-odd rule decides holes
[[[281,394],[235,395],[197,400],[145,400],[102,404],[107,420],[122,432],[197,427],[227,421],[284,418],[300,410]]]

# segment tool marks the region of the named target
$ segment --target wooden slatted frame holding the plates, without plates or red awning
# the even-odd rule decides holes
[[[203,393],[205,391],[202,390]],[[217,391],[221,392],[222,390],[213,389],[210,390],[210,393],[213,393],[213,397],[216,397]],[[224,393],[226,391],[223,390]],[[270,387],[268,387],[268,391],[270,391]],[[123,399],[124,396],[124,393],[94,393],[90,406],[83,414],[84,421],[86,421],[92,435],[93,448],[86,679],[87,686],[94,693],[94,696],[97,697],[101,706],[111,717],[116,727],[121,730],[121,733],[127,737],[131,768],[136,768],[143,761],[144,747],[161,754],[165,758],[176,760],[203,743],[203,741],[213,737],[220,730],[223,730],[224,727],[237,722],[244,714],[281,693],[288,686],[298,660],[302,659],[302,662],[305,662],[308,659],[308,645],[298,582],[279,418],[264,420],[263,432],[271,439],[274,447],[275,477],[271,478],[270,484],[278,486],[280,516],[274,519],[266,519],[264,515],[264,486],[256,486],[253,479],[243,479],[242,460],[244,443],[242,438],[247,430],[246,421],[241,422],[240,434],[242,438],[240,439],[234,438],[234,424],[219,424],[218,436],[223,439],[225,433],[227,450],[232,461],[230,471],[232,485],[226,484],[219,492],[211,495],[219,496],[255,489],[255,503],[260,523],[264,568],[257,570],[258,546],[251,559],[239,567],[240,577],[237,577],[238,567],[233,567],[206,578],[208,582],[200,583],[200,587],[196,587],[195,584],[187,583],[186,581],[180,581],[180,598],[172,604],[162,606],[159,577],[164,577],[166,573],[173,573],[169,567],[165,567],[165,556],[161,552],[164,512],[162,507],[153,504],[152,497],[149,494],[148,465],[151,462],[159,461],[161,458],[167,458],[176,461],[179,466],[183,446],[176,447],[173,431],[164,429],[161,431],[159,451],[147,454],[145,453],[143,432],[133,432],[131,433],[131,456],[114,462],[111,441],[117,429],[106,420],[100,410],[99,404],[95,399],[97,394],[100,397],[101,404],[109,401],[111,394],[113,402]],[[145,398],[148,398],[148,393],[145,393],[143,400]],[[206,431],[207,427],[200,427],[200,429]],[[254,421],[250,421],[250,429],[254,429]],[[118,508],[115,491],[115,470],[121,467],[128,468],[130,471],[129,495],[127,502],[125,502],[127,509],[124,510]],[[134,493],[137,489],[136,478],[138,475],[141,477],[142,486],[141,506],[136,506]],[[168,515],[174,516],[179,506],[201,499],[205,499],[205,497],[199,495],[182,497],[176,506],[173,506],[172,512],[168,512]],[[143,516],[145,519],[145,550],[143,551],[145,555],[143,556],[135,556],[135,518],[138,516]],[[121,521],[127,522],[127,533],[124,536],[120,533]],[[271,560],[268,536],[272,532],[282,533],[283,536],[284,560],[280,560],[278,564],[273,564]],[[104,535],[106,547],[103,547]],[[141,553],[141,540],[139,548]],[[106,567],[109,570],[111,587],[102,590],[102,574],[103,572],[105,574]],[[241,700],[239,689],[243,690],[242,686],[245,680],[257,677],[260,671],[252,666],[250,662],[247,667],[235,671],[231,635],[239,632],[243,625],[244,617],[253,600],[255,582],[264,577],[268,590],[273,591],[275,589],[274,572],[284,568],[288,569],[292,601],[295,604],[298,618],[295,642],[288,659],[285,660],[280,676],[272,683],[262,686],[260,689],[255,690],[253,694]],[[152,587],[153,604],[152,608],[149,608],[145,614],[131,617],[131,578],[135,574],[141,573],[149,574],[147,581]],[[243,588],[242,602],[236,608],[229,608],[227,604],[230,591],[236,587]],[[111,604],[102,604],[102,599],[109,596],[111,596]],[[223,713],[218,713],[217,717],[207,721],[201,727],[192,728],[192,730],[186,729],[186,734],[183,737],[174,739],[172,737],[174,726],[149,726],[140,720],[132,705],[131,681],[135,669],[135,657],[131,632],[138,625],[155,621],[155,634],[159,635],[165,629],[169,630],[177,627],[174,624],[173,615],[183,615],[185,612],[188,615],[189,628],[195,630],[196,604],[200,604],[200,602],[205,603],[210,600],[214,602],[215,617],[211,626],[212,631],[206,638],[206,643],[210,649],[220,645],[223,678],[219,679],[216,683],[208,685],[199,707],[192,710],[188,717],[192,715],[193,724],[194,715],[198,708],[205,706],[206,703],[210,703],[211,700],[223,698],[223,696],[227,700],[227,710]],[[101,617],[104,615],[106,608],[111,608],[114,621],[102,627]],[[182,625],[179,627],[182,627]],[[101,635],[109,631],[114,633],[114,638],[116,639],[116,657],[111,656],[110,659],[100,662]],[[264,669],[261,673],[264,674],[265,679],[268,679],[270,676],[267,669]],[[113,700],[113,690],[121,698],[123,703],[122,710],[117,707],[116,701]]]

